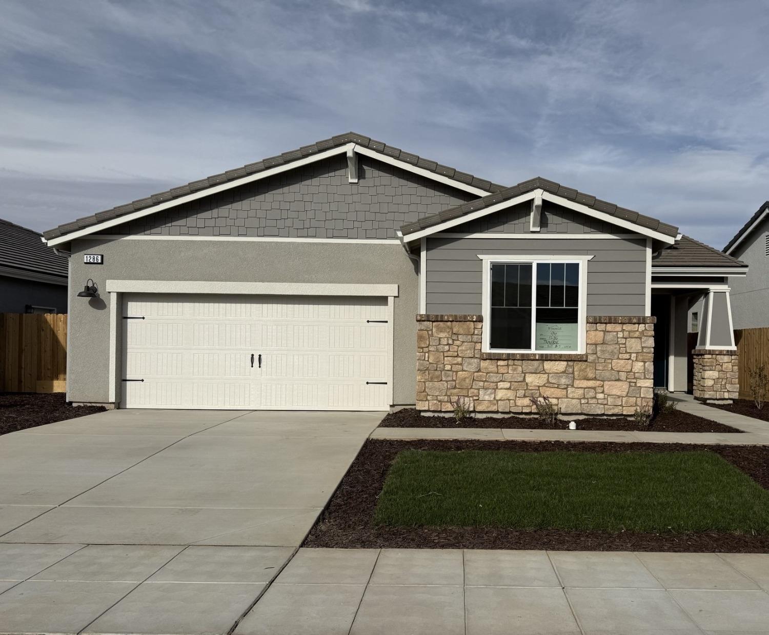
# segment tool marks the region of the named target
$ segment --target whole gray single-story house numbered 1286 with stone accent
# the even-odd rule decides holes
[[[737,392],[747,266],[547,179],[348,133],[44,234],[70,259],[68,399],[126,408],[631,414]],[[82,289],[82,290],[81,290]],[[79,296],[79,297],[78,297]]]

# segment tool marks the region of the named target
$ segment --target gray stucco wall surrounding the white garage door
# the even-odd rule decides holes
[[[104,254],[104,264],[84,265],[84,252]],[[398,284],[394,403],[414,403],[418,274],[400,245],[79,239],[72,244],[71,276],[67,375],[71,401],[108,401],[110,294],[105,291],[106,281],[150,279]],[[98,299],[75,297],[88,278],[102,290]]]

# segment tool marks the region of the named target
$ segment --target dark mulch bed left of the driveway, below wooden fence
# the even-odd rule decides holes
[[[102,413],[104,406],[68,406],[65,393],[0,393],[0,434]]]

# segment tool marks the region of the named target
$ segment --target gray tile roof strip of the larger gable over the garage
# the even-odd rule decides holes
[[[395,148],[392,145],[387,145],[384,142],[376,141],[365,135],[359,135],[357,132],[346,132],[343,135],[331,137],[331,139],[323,139],[322,141],[312,143],[311,145],[303,145],[296,150],[283,152],[281,155],[271,156],[255,163],[243,165],[240,168],[208,176],[205,179],[198,179],[197,181],[189,182],[186,185],[165,190],[165,192],[158,192],[157,194],[147,196],[144,199],[137,199],[126,203],[125,205],[116,206],[112,209],[105,209],[103,212],[97,212],[92,216],[84,216],[75,221],[59,225],[54,229],[48,229],[48,231],[43,232],[43,237],[45,240],[57,239],[68,233],[96,226],[101,222],[117,219],[121,216],[131,214],[132,212],[138,212],[143,209],[157,206],[161,203],[171,202],[174,199],[180,199],[183,196],[188,196],[195,192],[202,192],[217,185],[256,175],[259,172],[265,172],[268,169],[283,165],[290,166],[293,162],[298,162],[301,159],[308,159],[313,155],[340,148],[341,146],[350,143],[354,143],[362,148],[383,155],[383,159],[385,157],[397,159],[398,161],[413,165],[416,168],[433,172],[440,177],[452,179],[458,183],[463,183],[464,185],[471,186],[475,189],[483,190],[484,192],[499,192],[501,189],[504,189],[504,185],[498,185],[497,183],[480,179],[478,176],[468,174],[467,172],[460,172],[458,169],[451,168],[448,165],[441,165],[430,159],[424,159],[418,155],[411,154],[411,152],[406,152],[405,150]]]

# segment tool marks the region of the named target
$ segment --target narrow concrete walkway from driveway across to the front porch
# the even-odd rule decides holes
[[[671,399],[683,412],[711,419],[743,433],[670,433],[602,430],[529,430],[508,428],[377,428],[371,439],[487,439],[514,441],[612,441],[617,443],[702,443],[705,445],[769,445],[769,422],[705,406],[691,395]],[[579,426],[579,420],[577,421]]]

